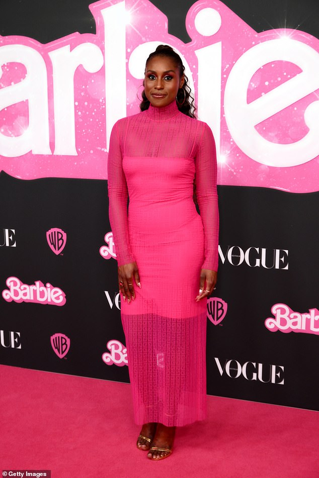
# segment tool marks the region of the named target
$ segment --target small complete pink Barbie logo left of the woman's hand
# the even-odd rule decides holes
[[[34,302],[52,306],[63,306],[66,302],[64,292],[49,282],[44,285],[41,280],[36,280],[34,285],[28,285],[17,277],[8,277],[6,284],[9,289],[3,291],[2,297],[7,302]]]

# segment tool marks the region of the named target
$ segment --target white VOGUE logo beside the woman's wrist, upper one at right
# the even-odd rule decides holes
[[[288,269],[288,251],[286,249],[266,249],[264,247],[249,247],[242,249],[240,246],[228,246],[222,250],[218,245],[218,254],[222,264],[229,262],[231,265],[242,265],[244,262],[249,267],[263,267],[264,269]]]

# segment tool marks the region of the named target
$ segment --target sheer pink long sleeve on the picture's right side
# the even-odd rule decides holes
[[[202,268],[217,271],[219,215],[216,147],[210,128],[205,123],[203,126],[195,158],[197,202],[205,236],[205,260]]]

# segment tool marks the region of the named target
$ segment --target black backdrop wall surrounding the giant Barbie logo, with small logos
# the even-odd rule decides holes
[[[194,2],[151,3],[168,17],[169,33],[190,42],[185,18]],[[257,32],[285,27],[318,37],[315,1],[222,3]],[[48,44],[76,31],[96,34],[89,4],[2,0],[2,45],[13,35]],[[128,381],[116,261],[112,238],[105,238],[107,181],[27,179],[3,169],[1,363]],[[318,410],[318,188],[296,193],[244,184],[218,186],[220,263],[207,310],[207,392]]]

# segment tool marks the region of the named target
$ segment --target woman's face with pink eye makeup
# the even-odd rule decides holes
[[[145,68],[144,91],[152,106],[162,108],[176,99],[177,92],[184,84],[184,75],[174,60],[167,56],[154,56]]]

